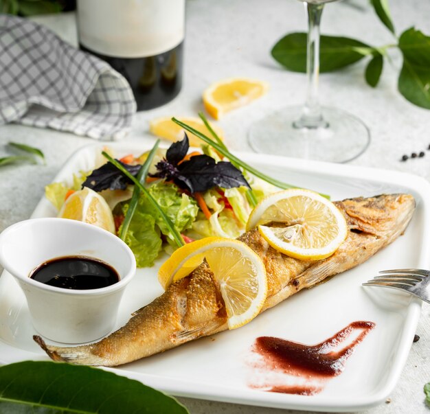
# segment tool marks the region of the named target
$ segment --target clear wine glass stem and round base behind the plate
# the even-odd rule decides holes
[[[304,0],[301,0],[304,1]],[[249,144],[256,152],[343,163],[362,154],[370,131],[360,119],[338,108],[319,105],[319,24],[324,3],[304,1],[308,13],[304,106],[288,106],[251,125]]]

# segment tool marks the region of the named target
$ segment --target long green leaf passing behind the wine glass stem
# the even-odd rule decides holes
[[[291,33],[273,46],[271,54],[286,69],[306,72],[306,33]],[[374,49],[352,38],[321,36],[319,71],[330,72],[358,62]]]

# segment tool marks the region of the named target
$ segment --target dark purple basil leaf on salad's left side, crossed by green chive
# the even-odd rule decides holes
[[[129,165],[117,160],[130,174],[135,176],[139,172],[142,165]],[[82,183],[83,187],[89,187],[95,192],[100,192],[104,189],[126,189],[127,184],[133,183],[112,163],[106,163],[97,170],[93,170],[87,179]]]

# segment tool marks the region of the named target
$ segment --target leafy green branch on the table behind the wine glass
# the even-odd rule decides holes
[[[396,43],[377,47],[343,36],[321,36],[319,71],[336,71],[370,57],[365,69],[365,81],[376,87],[384,62],[389,59],[388,51],[396,47],[403,55],[398,91],[412,104],[430,109],[430,36],[414,27],[397,36],[388,0],[370,2]],[[306,72],[306,37],[306,33],[287,34],[273,46],[273,58],[290,71]]]

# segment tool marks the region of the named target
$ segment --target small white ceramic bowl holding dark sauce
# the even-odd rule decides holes
[[[111,265],[120,281],[91,290],[49,286],[30,273],[56,257],[82,255]],[[34,218],[0,234],[0,264],[27,299],[36,331],[52,341],[84,343],[113,330],[124,289],[136,272],[135,256],[117,236],[84,222]]]

